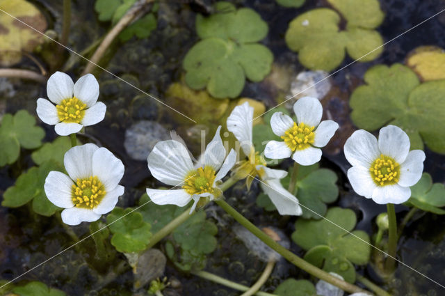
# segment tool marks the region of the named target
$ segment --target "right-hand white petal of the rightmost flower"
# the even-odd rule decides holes
[[[401,164],[401,176],[398,185],[410,187],[419,182],[423,172],[425,153],[422,150],[412,150]]]

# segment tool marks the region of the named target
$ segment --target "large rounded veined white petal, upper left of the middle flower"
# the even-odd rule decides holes
[[[154,178],[172,186],[181,184],[193,170],[187,148],[173,140],[156,143],[148,155],[147,162]]]

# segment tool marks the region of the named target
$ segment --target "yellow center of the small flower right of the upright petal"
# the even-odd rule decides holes
[[[281,139],[284,139],[284,143],[291,148],[292,151],[304,150],[314,143],[315,134],[312,132],[315,127],[309,127],[305,123],[293,123],[293,126],[284,132]]]

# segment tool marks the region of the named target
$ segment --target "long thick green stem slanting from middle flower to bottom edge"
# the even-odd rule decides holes
[[[254,226],[248,219],[245,219],[243,215],[241,215],[239,212],[237,212],[234,208],[232,208],[228,203],[225,201],[216,201],[218,205],[223,208],[229,215],[234,217],[238,223],[243,225],[245,228],[248,229],[251,233],[256,235],[260,240],[262,240],[265,244],[267,244],[270,248],[277,251],[278,254],[286,258],[286,260],[289,260],[290,263],[293,263],[293,265],[296,265],[297,267],[300,267],[302,270],[305,270],[309,274],[312,274],[313,276],[316,276],[318,279],[323,279],[323,281],[327,281],[328,283],[332,283],[332,285],[337,286],[341,288],[341,290],[345,290],[348,293],[366,293],[365,290],[362,290],[361,288],[351,284],[347,283],[346,281],[342,281],[341,279],[337,279],[337,277],[332,276],[331,274],[321,270],[320,268],[307,263],[302,258],[298,257],[296,254],[293,254],[291,251],[283,247],[281,244],[278,244],[273,240],[271,237],[266,235],[263,231],[259,230],[257,226]],[[376,292],[376,291],[375,291]],[[377,293],[377,292],[376,292]],[[380,295],[380,294],[378,294]]]

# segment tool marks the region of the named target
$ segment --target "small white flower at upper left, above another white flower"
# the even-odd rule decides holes
[[[97,102],[99,84],[91,74],[74,84],[70,76],[56,72],[48,79],[47,95],[49,100],[37,100],[37,115],[44,123],[56,125],[60,136],[79,132],[83,126],[95,125],[105,117],[105,104]]]

